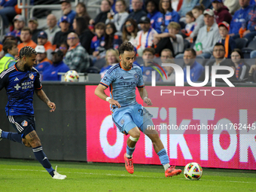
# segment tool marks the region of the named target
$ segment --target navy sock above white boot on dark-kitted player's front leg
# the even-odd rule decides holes
[[[47,172],[49,172],[49,174],[53,177],[54,169],[51,166],[50,161],[44,154],[43,147],[39,146],[39,147],[33,148],[33,153],[35,154],[35,158],[39,161],[39,163],[41,163],[41,165],[44,166],[44,169],[46,169]]]

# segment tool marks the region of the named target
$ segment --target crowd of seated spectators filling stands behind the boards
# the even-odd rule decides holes
[[[190,66],[191,81],[204,80],[205,66],[231,66],[233,81],[256,82],[255,62],[246,63],[256,58],[255,2],[102,0],[100,13],[92,18],[83,2],[72,10],[69,0],[60,0],[62,17],[48,14],[47,29],[38,29],[35,17],[26,26],[17,1],[2,1],[0,15],[5,31],[11,30],[2,39],[0,72],[14,65],[22,47],[30,46],[38,53],[35,68],[41,81],[60,81],[58,72],[70,69],[103,76],[119,62],[120,44],[130,41],[145,81],[151,81],[154,62],[181,59],[184,73]],[[168,78],[157,77],[159,81],[175,81],[174,70],[164,70]]]

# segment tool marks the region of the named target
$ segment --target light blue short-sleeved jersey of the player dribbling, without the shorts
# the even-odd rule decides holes
[[[135,105],[136,87],[144,87],[142,69],[133,65],[130,70],[122,69],[120,63],[112,66],[105,73],[100,84],[109,87],[111,99],[117,100],[121,107]],[[111,106],[111,110],[116,106]]]

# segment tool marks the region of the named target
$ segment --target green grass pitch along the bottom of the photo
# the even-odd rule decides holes
[[[123,164],[51,161],[66,180],[54,180],[35,160],[0,159],[0,191],[256,191],[256,172],[206,169],[199,181],[182,174],[165,178],[163,166],[135,165],[133,175]]]

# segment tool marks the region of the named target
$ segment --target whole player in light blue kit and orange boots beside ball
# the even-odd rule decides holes
[[[139,94],[147,105],[152,105],[148,98],[148,92],[142,77],[142,69],[133,66],[134,47],[130,42],[125,42],[119,47],[120,63],[112,66],[105,73],[102,81],[96,87],[95,94],[99,98],[109,102],[112,119],[121,133],[129,134],[127,139],[126,154],[124,154],[125,167],[133,174],[133,151],[139,140],[140,130],[153,142],[154,151],[159,156],[160,162],[165,169],[166,177],[181,174],[181,169],[169,165],[169,157],[157,130],[153,129],[152,115],[136,102],[136,87]],[[105,89],[110,88],[111,96],[105,94]]]

